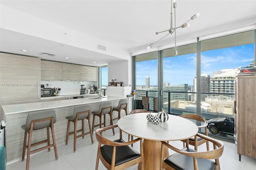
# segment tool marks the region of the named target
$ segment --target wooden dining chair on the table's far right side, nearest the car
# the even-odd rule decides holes
[[[195,115],[195,114],[180,115],[180,117],[200,121],[200,123],[203,123],[202,125],[198,126],[198,128],[204,128],[205,135],[208,136],[208,131],[207,131],[208,123],[204,117],[200,115]],[[181,140],[181,141],[183,142],[183,147],[185,147],[186,140]],[[194,146],[194,150],[197,150],[197,147],[204,143],[206,143],[206,149],[209,150],[209,142],[207,140],[198,138],[197,136],[189,138],[189,144]]]

